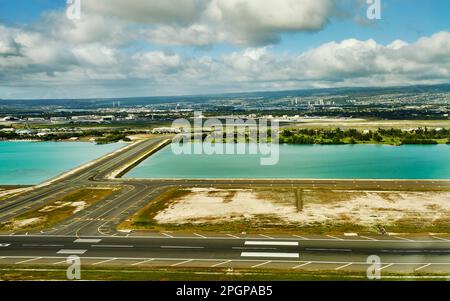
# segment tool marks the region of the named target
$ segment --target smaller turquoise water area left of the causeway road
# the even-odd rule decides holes
[[[123,146],[84,142],[0,142],[0,185],[33,185]]]

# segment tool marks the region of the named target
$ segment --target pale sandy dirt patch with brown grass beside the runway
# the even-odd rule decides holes
[[[154,210],[152,225],[201,230],[450,232],[449,192],[193,188]],[[150,210],[151,211],[151,210]],[[145,215],[139,216],[145,220]],[[234,226],[233,226],[234,225]],[[237,226],[237,227],[235,227]],[[395,230],[395,231],[394,231]]]

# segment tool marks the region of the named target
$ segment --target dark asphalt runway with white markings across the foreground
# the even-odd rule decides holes
[[[65,265],[70,255],[90,266],[354,272],[377,255],[385,273],[450,273],[450,241],[0,237],[0,265]]]

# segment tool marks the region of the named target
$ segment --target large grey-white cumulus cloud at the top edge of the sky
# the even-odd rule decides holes
[[[103,18],[105,24],[111,23],[105,21],[110,19],[140,25],[143,29],[140,32],[159,44],[260,46],[277,43],[285,32],[322,29],[334,14],[333,3],[332,0],[89,0],[83,2],[83,11],[96,24],[86,22],[81,26],[101,29],[104,26],[99,20]]]

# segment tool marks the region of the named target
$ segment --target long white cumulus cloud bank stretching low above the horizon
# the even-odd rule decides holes
[[[278,21],[275,18],[269,23],[273,26]],[[4,88],[0,97],[27,93],[33,93],[28,97],[62,97],[68,91],[74,93],[72,97],[100,97],[428,84],[448,82],[450,78],[447,31],[414,43],[396,40],[383,45],[372,39],[347,39],[296,54],[274,53],[271,47],[248,47],[208,56],[130,50],[126,35],[114,39],[106,32],[104,39],[83,40],[77,31],[85,25],[78,26],[0,26],[0,85]],[[99,31],[103,32],[101,28]],[[196,31],[205,31],[204,37],[198,35],[198,43],[210,38],[207,29],[197,27]],[[224,39],[219,35],[215,38]],[[64,87],[64,93],[55,87]]]

